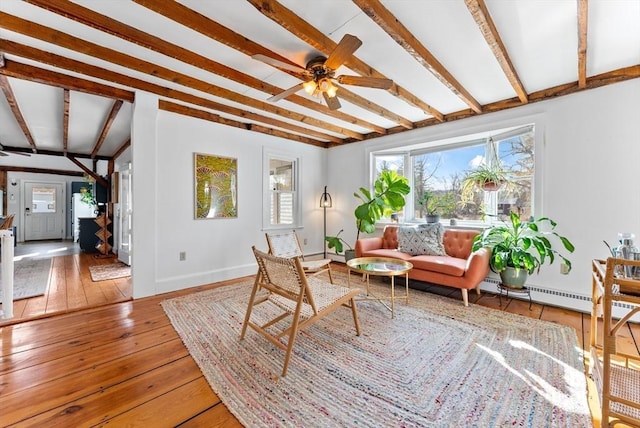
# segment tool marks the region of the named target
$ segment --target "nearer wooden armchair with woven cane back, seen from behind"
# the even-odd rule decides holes
[[[240,339],[244,339],[247,327],[251,327],[269,342],[285,350],[282,376],[287,374],[291,351],[298,332],[340,306],[351,309],[356,334],[360,335],[358,312],[354,300],[354,297],[360,293],[359,289],[333,285],[315,276],[307,277],[299,257],[276,257],[259,251],[255,247],[252,247],[252,250],[258,262],[259,274],[256,275],[253,283]],[[254,307],[262,304],[275,305],[275,308],[279,309],[276,310],[279,314],[257,324],[252,321],[251,314]],[[289,317],[291,323],[288,327],[281,331],[273,331],[274,324]],[[286,343],[283,342],[283,338],[286,339]]]

